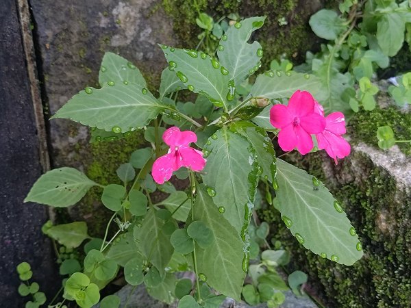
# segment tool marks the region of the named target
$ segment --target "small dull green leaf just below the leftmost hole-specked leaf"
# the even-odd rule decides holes
[[[87,224],[84,221],[71,222],[69,224],[58,224],[47,232],[50,238],[58,241],[67,248],[76,248],[90,236],[87,234]]]

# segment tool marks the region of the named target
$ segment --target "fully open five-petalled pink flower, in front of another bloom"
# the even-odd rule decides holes
[[[301,154],[312,150],[311,133],[321,133],[325,118],[314,112],[314,98],[309,92],[297,90],[288,105],[274,105],[270,110],[270,122],[280,129],[278,144],[283,151],[297,148]]]

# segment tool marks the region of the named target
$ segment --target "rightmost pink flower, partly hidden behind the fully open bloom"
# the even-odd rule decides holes
[[[324,116],[323,106],[317,102],[315,102],[315,104],[315,112]],[[327,154],[334,158],[336,164],[338,164],[337,158],[348,156],[351,151],[351,146],[347,140],[340,136],[345,132],[344,114],[341,112],[333,112],[325,118],[324,131],[316,134],[319,149],[325,149]]]

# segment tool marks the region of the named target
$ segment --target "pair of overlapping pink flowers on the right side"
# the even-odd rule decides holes
[[[297,150],[309,153],[315,135],[318,147],[334,158],[349,155],[351,146],[341,136],[345,133],[345,118],[341,112],[333,112],[324,117],[323,107],[317,103],[310,92],[297,90],[288,105],[274,105],[270,110],[271,124],[280,129],[278,144],[284,151]]]

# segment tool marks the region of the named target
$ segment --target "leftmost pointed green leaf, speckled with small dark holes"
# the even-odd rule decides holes
[[[53,207],[74,205],[97,183],[75,168],[50,170],[34,183],[24,202],[36,202]]]

